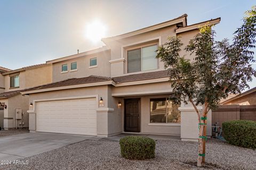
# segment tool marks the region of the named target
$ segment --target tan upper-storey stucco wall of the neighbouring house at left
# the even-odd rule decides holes
[[[10,89],[10,77],[19,74],[19,88]],[[52,82],[52,65],[45,65],[42,67],[35,67],[20,71],[19,73],[7,74],[5,77],[5,91],[22,90],[30,87],[39,86]]]

